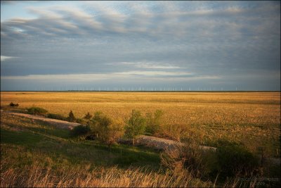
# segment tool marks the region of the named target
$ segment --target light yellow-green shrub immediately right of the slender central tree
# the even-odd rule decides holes
[[[159,132],[160,125],[162,124],[163,111],[157,110],[152,116],[151,113],[146,114],[146,127],[145,132],[148,134],[155,134]]]

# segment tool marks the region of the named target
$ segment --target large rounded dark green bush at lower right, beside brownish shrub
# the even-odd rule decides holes
[[[247,176],[259,167],[257,158],[241,144],[219,140],[217,143],[218,166],[221,175]]]

